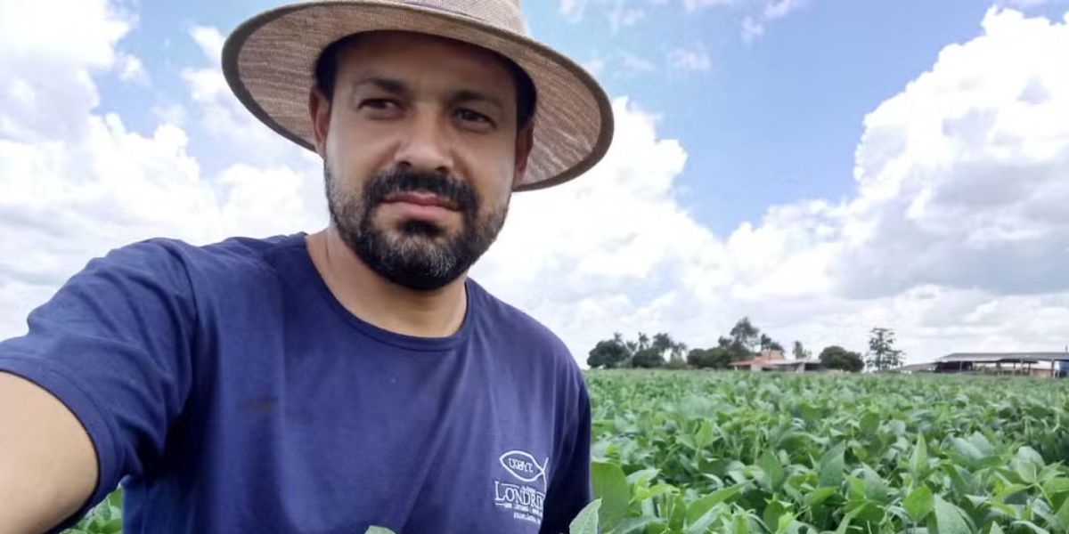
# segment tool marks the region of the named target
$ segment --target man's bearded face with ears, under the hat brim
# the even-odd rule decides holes
[[[366,34],[338,56],[332,104],[313,92],[311,108],[331,222],[378,274],[436,289],[497,237],[530,147],[499,58],[425,35]]]

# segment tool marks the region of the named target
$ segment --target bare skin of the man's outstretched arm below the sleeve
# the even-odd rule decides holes
[[[78,512],[96,485],[93,443],[44,389],[0,372],[0,534],[45,532]]]

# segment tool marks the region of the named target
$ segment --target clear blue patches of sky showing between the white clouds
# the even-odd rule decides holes
[[[189,29],[226,32],[279,3],[142,3],[123,45],[144,59],[155,91],[110,80],[103,83],[104,107],[151,131],[153,106],[189,104],[181,69],[203,62]],[[566,12],[556,1],[524,2],[536,38],[595,70],[610,96],[626,95],[661,115],[659,131],[688,147],[677,185],[680,203],[722,233],[758,219],[770,204],[849,195],[864,115],[929,69],[944,46],[974,36],[992,5],[793,1],[786,2],[789,13],[747,40],[742,21],[759,17],[763,5],[730,3],[688,10],[683,2],[588,0]],[[1025,5],[1056,19],[1066,2]],[[642,15],[614,27],[613,14],[629,10]],[[673,49],[699,51],[708,70],[667,64]],[[649,65],[629,66],[629,56]],[[229,162],[226,155],[207,157],[210,146],[201,152],[218,166]]]

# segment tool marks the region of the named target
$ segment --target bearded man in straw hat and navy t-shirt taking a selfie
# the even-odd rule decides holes
[[[567,531],[583,376],[466,273],[511,192],[589,169],[613,123],[517,3],[320,1],[234,31],[227,79],[323,157],[330,223],[135,244],[35,310],[0,343],[0,533],[120,482],[126,532]]]

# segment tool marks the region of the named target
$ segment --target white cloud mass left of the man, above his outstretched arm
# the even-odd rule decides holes
[[[324,222],[309,193],[322,188],[316,174],[303,182],[281,163],[245,163],[204,176],[186,131],[166,121],[181,107],[157,113],[165,120],[150,136],[98,113],[94,74],[136,79],[130,65],[140,61],[118,47],[133,18],[104,2],[67,4],[0,3],[0,337],[24,331],[30,309],[111,248],[153,236],[204,244]],[[37,20],[57,10],[74,15],[56,17],[55,28]],[[192,78],[204,106],[223,106],[208,76]]]

